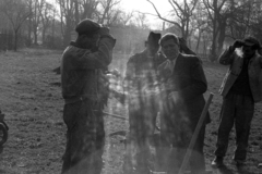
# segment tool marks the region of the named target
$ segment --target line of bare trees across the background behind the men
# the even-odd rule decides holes
[[[154,29],[187,38],[210,61],[216,61],[235,39],[253,35],[262,41],[261,0],[166,0],[171,9],[168,14],[162,14],[154,0],[145,1],[155,14],[127,12],[121,1],[0,0],[0,49],[63,49],[75,37],[75,24],[88,17],[111,28],[118,39],[116,51],[131,53],[144,48],[151,30],[148,15],[163,21]]]

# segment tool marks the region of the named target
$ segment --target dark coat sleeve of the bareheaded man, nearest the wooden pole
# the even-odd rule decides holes
[[[190,60],[190,85],[178,91],[182,100],[193,99],[207,90],[207,82],[203,71],[202,61],[198,57],[192,57]]]

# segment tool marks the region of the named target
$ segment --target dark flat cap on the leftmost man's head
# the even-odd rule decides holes
[[[100,27],[102,27],[100,24],[94,22],[93,20],[85,18],[76,25],[75,32],[79,35],[84,35],[84,34],[88,35],[88,34],[94,34],[98,32]]]

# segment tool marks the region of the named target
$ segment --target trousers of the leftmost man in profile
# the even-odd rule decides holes
[[[105,132],[102,111],[92,110],[90,102],[80,102],[73,119],[64,115],[68,125],[67,148],[63,157],[62,173],[99,174],[103,167]],[[73,108],[68,108],[69,113]],[[97,114],[96,112],[99,111]],[[72,116],[71,116],[72,117]]]

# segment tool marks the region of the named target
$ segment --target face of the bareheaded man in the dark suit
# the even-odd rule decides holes
[[[177,58],[179,54],[179,46],[174,39],[163,41],[162,51],[167,58]]]

